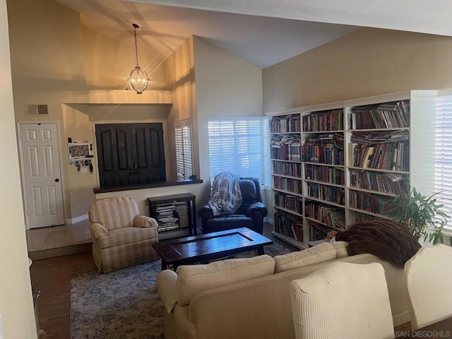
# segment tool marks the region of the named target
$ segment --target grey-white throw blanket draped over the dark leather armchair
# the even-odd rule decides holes
[[[213,179],[208,205],[213,215],[232,214],[242,204],[240,176],[231,172],[220,172]]]

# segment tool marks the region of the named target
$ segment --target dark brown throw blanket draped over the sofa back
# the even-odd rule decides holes
[[[348,242],[348,254],[369,253],[402,266],[421,248],[405,226],[387,219],[357,222],[336,235],[336,240]]]

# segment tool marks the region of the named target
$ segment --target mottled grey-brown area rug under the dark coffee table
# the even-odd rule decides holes
[[[269,256],[290,252],[264,246]],[[155,287],[160,260],[71,277],[71,339],[163,338],[164,309]]]

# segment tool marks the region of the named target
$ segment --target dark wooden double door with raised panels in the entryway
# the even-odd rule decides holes
[[[166,180],[161,123],[96,125],[96,144],[101,187]]]

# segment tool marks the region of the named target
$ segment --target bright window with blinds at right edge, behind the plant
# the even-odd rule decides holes
[[[452,96],[436,98],[435,192],[452,217]],[[452,220],[445,228],[452,230]]]

